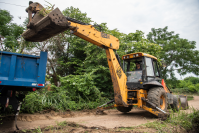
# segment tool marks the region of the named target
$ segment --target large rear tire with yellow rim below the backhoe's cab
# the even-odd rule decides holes
[[[147,99],[154,103],[158,108],[167,111],[167,94],[162,87],[153,87],[149,89]]]

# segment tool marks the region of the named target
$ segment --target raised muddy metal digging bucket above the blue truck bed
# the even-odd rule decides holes
[[[67,18],[56,8],[46,16],[37,12],[22,37],[26,41],[42,42],[67,29],[69,29]]]

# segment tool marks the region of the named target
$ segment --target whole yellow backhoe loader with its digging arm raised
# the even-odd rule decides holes
[[[119,39],[100,32],[94,26],[64,16],[56,8],[50,13],[39,3],[29,2],[26,9],[29,16],[27,30],[22,34],[26,41],[42,42],[65,30],[97,45],[106,51],[108,66],[114,89],[114,103],[121,112],[129,112],[133,105],[150,113],[166,118],[168,105],[175,110],[187,108],[186,96],[175,96],[161,79],[157,58],[145,53],[132,53],[122,57],[123,67],[115,50],[119,49]],[[41,12],[43,15],[41,15]],[[32,14],[34,16],[32,17]],[[104,105],[98,109],[106,109]]]

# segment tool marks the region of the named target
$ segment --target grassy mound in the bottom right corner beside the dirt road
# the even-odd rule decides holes
[[[116,131],[139,131],[158,132],[158,133],[177,133],[177,132],[198,132],[199,129],[199,110],[190,108],[191,113],[185,111],[173,112],[170,110],[170,117],[165,120],[156,120],[134,127],[121,127]]]

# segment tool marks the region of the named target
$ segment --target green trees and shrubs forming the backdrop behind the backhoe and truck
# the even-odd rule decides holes
[[[53,5],[48,4],[50,6],[47,9],[50,11]],[[63,14],[84,23],[97,25],[78,8],[66,8]],[[9,12],[0,10],[0,50],[28,54],[38,54],[37,51],[48,50],[46,79],[51,82],[50,91],[45,88],[27,93],[22,112],[34,113],[46,109],[92,109],[113,99],[113,85],[104,49],[71,35],[70,31],[44,42],[26,42],[20,38],[25,28],[11,21],[12,16]],[[24,24],[27,23],[26,19]],[[180,93],[199,91],[196,79],[188,78],[176,82],[173,73],[178,68],[181,75],[187,72],[198,75],[198,51],[194,50],[196,42],[179,38],[174,32],[168,32],[167,27],[152,29],[146,39],[144,33],[139,30],[124,34],[118,29],[109,29],[106,23],[101,23],[99,26],[102,32],[119,39],[120,48],[117,53],[120,57],[134,52],[156,56],[160,62],[164,60],[167,66],[162,68],[167,85],[169,83],[171,88],[180,88],[177,89],[177,92],[181,90]],[[100,30],[98,26],[95,28]]]

